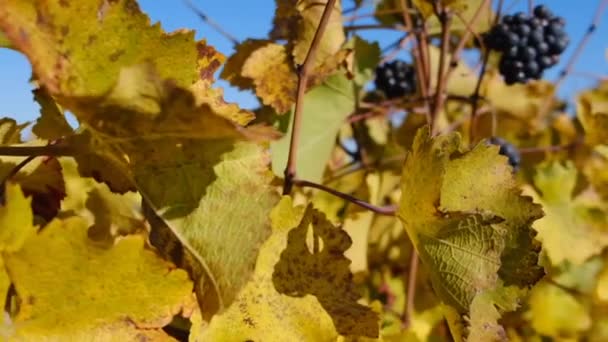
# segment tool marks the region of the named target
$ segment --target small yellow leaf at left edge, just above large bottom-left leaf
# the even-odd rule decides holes
[[[19,185],[6,183],[4,203],[0,207],[0,252],[14,252],[36,233],[31,199],[25,198]]]

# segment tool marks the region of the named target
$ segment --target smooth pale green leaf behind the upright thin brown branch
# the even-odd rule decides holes
[[[298,143],[298,177],[312,182],[321,180],[336,135],[354,109],[353,83],[340,74],[330,76],[306,94]],[[272,169],[276,175],[283,175],[287,163],[292,126],[290,123],[287,134],[271,144]]]

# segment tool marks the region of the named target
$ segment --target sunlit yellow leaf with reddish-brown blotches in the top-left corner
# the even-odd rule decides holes
[[[135,0],[3,0],[0,28],[51,94],[101,95],[144,61],[184,87],[199,77],[194,33],[164,33]]]

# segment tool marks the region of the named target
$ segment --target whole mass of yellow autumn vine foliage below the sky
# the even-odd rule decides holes
[[[277,1],[226,57],[135,0],[0,0],[41,107],[0,120],[2,338],[608,339],[608,83],[507,85],[489,1],[353,3],[410,38]],[[416,92],[370,89],[399,49]]]

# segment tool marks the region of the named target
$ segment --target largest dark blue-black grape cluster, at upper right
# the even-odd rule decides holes
[[[502,52],[499,71],[508,85],[540,79],[543,71],[557,64],[570,38],[565,21],[544,5],[532,16],[523,12],[506,15],[485,35],[488,48]]]

